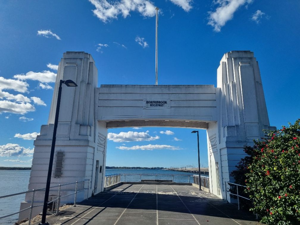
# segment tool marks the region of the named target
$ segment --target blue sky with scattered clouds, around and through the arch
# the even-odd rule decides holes
[[[98,86],[155,83],[155,6],[160,8],[158,84],[216,86],[223,54],[251,50],[259,62],[270,124],[279,128],[299,118],[297,0],[0,1],[0,166],[31,165],[33,139],[47,123],[55,65],[63,52],[91,53]],[[197,164],[190,129],[109,132],[109,166]],[[203,164],[208,161],[205,132],[200,131]],[[114,134],[128,139],[116,142]]]

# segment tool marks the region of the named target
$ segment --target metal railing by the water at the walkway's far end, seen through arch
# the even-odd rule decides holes
[[[105,177],[105,187],[120,182],[192,183],[189,174],[116,174]]]

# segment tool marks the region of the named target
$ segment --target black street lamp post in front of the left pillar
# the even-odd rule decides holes
[[[47,175],[44,206],[43,206],[43,214],[42,214],[42,221],[41,221],[41,223],[39,223],[39,225],[40,224],[49,224],[48,222],[46,222],[46,213],[47,213],[47,205],[48,205],[50,182],[51,182],[51,173],[52,173],[52,165],[53,165],[53,157],[54,157],[54,149],[55,149],[55,141],[56,141],[56,130],[57,130],[57,124],[58,124],[58,114],[59,114],[59,107],[60,107],[62,84],[65,84],[68,87],[77,87],[77,84],[73,80],[60,80],[59,81],[54,127],[53,127],[53,135],[52,135],[52,143],[51,143],[51,151],[50,151],[50,159],[49,159],[49,167],[48,167],[48,175]],[[57,207],[59,207],[59,205],[57,205]]]

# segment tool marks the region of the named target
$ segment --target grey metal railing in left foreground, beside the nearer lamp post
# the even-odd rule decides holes
[[[88,181],[88,187],[85,188],[85,189],[83,189],[83,190],[77,191],[78,183],[83,182],[83,183],[82,183],[82,186],[84,187],[84,182],[85,182],[85,181]],[[67,195],[64,195],[64,196],[61,196],[61,195],[60,195],[60,192],[61,192],[61,186],[69,185],[69,184],[76,184],[76,186],[75,186],[75,192],[70,193],[70,194],[67,194]],[[72,194],[75,194],[75,197],[74,197],[74,206],[76,206],[76,196],[77,196],[77,193],[82,192],[82,191],[85,191],[85,190],[88,190],[88,188],[89,188],[89,179],[83,180],[83,181],[76,181],[76,182],[72,182],[72,183],[59,184],[59,185],[52,186],[52,187],[50,187],[50,188],[53,188],[53,187],[58,187],[58,195],[57,195],[57,198],[55,198],[55,199],[49,201],[48,204],[51,203],[51,202],[54,203],[55,201],[57,202],[57,203],[56,203],[56,213],[55,213],[55,214],[57,215],[57,214],[58,214],[58,210],[59,210],[60,199],[61,199],[61,198],[64,198],[64,197],[67,197],[67,196],[70,196],[70,195],[72,195]],[[29,222],[28,222],[28,224],[30,225],[30,223],[31,223],[31,218],[32,218],[32,209],[35,208],[35,207],[43,206],[43,205],[44,205],[44,203],[43,203],[43,204],[40,204],[40,205],[34,205],[35,192],[36,192],[36,191],[42,191],[42,190],[45,190],[45,189],[46,189],[46,187],[40,188],[40,189],[33,189],[33,190],[23,191],[23,192],[19,192],[19,193],[14,193],[14,194],[9,194],[9,195],[3,195],[3,196],[0,196],[0,199],[1,199],[1,198],[7,198],[7,197],[11,197],[11,196],[16,196],[16,195],[26,194],[26,193],[32,192],[32,198],[31,198],[31,205],[30,205],[30,207],[24,208],[24,209],[22,209],[22,210],[20,210],[20,211],[17,211],[17,212],[14,212],[14,213],[11,213],[11,214],[8,214],[8,215],[5,215],[5,216],[1,216],[0,219],[5,218],[5,217],[9,217],[9,216],[18,214],[18,213],[20,213],[20,212],[22,212],[22,211],[25,211],[25,210],[30,209],[30,212],[29,212]],[[87,197],[88,197],[88,196],[87,196]],[[52,203],[52,205],[53,205],[53,203]],[[53,208],[53,207],[52,207],[52,208]]]

